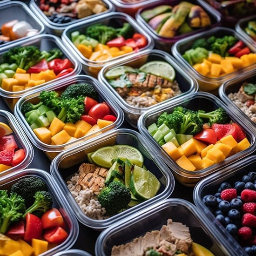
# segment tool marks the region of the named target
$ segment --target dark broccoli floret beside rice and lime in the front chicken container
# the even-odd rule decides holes
[[[128,203],[131,201],[131,193],[122,182],[113,181],[108,187],[101,190],[98,200],[101,206],[106,209],[106,214],[113,216],[122,209],[128,208]]]

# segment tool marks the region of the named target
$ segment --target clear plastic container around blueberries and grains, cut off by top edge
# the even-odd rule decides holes
[[[31,0],[29,2],[29,7],[31,8],[32,12],[35,13],[35,15],[39,17],[39,19],[43,22],[44,26],[46,27],[47,33],[61,36],[64,29],[67,28],[69,25],[75,25],[77,24],[77,22],[80,22],[80,21],[83,23],[87,23],[88,20],[95,19],[101,16],[102,14],[107,14],[115,11],[115,8],[110,1],[102,0],[102,2],[105,3],[107,7],[107,11],[101,12],[101,13],[95,13],[85,18],[73,20],[67,23],[57,23],[57,22],[51,21],[49,17],[47,17],[47,15],[40,9],[40,0]]]

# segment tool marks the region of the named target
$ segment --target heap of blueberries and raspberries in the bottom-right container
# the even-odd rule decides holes
[[[256,172],[234,183],[222,182],[202,202],[248,255],[256,255]]]

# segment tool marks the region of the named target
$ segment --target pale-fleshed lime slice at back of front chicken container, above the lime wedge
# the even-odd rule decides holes
[[[143,165],[143,155],[141,152],[132,146],[129,145],[115,145],[113,146],[118,150],[118,157],[122,160],[125,161],[128,159],[131,163],[142,166]]]

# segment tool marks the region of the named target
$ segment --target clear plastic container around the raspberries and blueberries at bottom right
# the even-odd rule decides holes
[[[217,234],[219,234],[220,239],[225,241],[227,244],[229,248],[229,255],[241,256],[247,254],[228,233],[228,231],[226,231],[222,224],[216,220],[213,213],[211,213],[211,211],[202,202],[202,198],[204,195],[214,195],[222,182],[229,182],[230,184],[233,184],[234,182],[241,180],[243,175],[247,175],[250,171],[255,171],[255,168],[256,155],[251,155],[223,168],[221,171],[218,171],[213,175],[208,176],[195,186],[193,192],[196,207],[204,213],[202,214],[202,217],[206,217],[209,222],[213,223],[215,229],[217,229]]]

